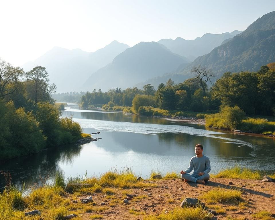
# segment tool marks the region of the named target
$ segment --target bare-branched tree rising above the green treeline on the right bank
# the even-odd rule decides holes
[[[193,66],[191,72],[195,72],[195,78],[200,82],[201,88],[203,89],[203,96],[205,96],[207,89],[207,82],[209,81],[211,84],[211,78],[215,77],[215,74],[212,70],[207,69],[206,67]]]

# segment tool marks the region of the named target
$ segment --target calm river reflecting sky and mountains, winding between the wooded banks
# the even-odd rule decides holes
[[[25,188],[41,179],[51,179],[56,170],[66,176],[97,175],[110,168],[131,167],[147,178],[152,168],[179,172],[188,167],[194,146],[203,144],[211,161],[211,172],[239,164],[247,168],[275,171],[274,139],[264,135],[234,134],[158,117],[124,115],[122,112],[84,110],[69,105],[62,117],[73,115],[85,133],[100,131],[97,142],[51,148],[28,157],[0,164],[11,172],[13,183]],[[0,187],[4,180],[0,177]]]

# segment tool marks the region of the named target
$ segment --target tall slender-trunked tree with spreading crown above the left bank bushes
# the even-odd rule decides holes
[[[40,89],[42,97],[45,94],[50,94],[56,91],[56,86],[54,84],[49,85],[48,72],[43,66],[36,66],[32,70],[26,73],[26,78],[34,82],[34,101],[37,104],[38,91]]]

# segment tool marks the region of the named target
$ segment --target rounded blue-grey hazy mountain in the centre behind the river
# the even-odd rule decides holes
[[[162,44],[140,42],[117,55],[112,63],[93,73],[83,88],[85,91],[107,91],[115,87],[126,89],[148,78],[174,72],[180,64],[187,64],[188,61]]]

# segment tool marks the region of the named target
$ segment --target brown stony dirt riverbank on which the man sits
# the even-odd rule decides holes
[[[66,199],[67,210],[64,212],[64,217],[85,220],[132,218],[142,220],[148,216],[168,216],[176,207],[191,206],[192,202],[199,202],[213,220],[261,219],[255,216],[263,211],[270,215],[266,219],[274,219],[275,183],[266,181],[268,179],[263,181],[211,178],[207,184],[202,185],[173,178],[144,180],[144,184],[151,184],[146,188],[109,187],[97,190],[89,188],[90,184],[84,184],[80,186],[82,189],[77,193],[67,192],[63,196]],[[155,187],[152,187],[152,184]],[[212,191],[221,192],[221,194],[238,192],[241,198],[231,198],[229,202],[219,202],[213,198],[205,199],[204,196]],[[29,209],[24,211],[32,211]],[[50,217],[47,211],[39,211],[42,219]]]

